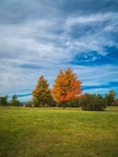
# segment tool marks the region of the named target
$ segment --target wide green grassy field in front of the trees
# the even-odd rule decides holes
[[[0,157],[118,157],[118,107],[0,107]]]

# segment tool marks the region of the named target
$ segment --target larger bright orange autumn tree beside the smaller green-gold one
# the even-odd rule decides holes
[[[67,69],[66,72],[60,70],[51,89],[54,99],[64,107],[67,101],[79,98],[80,94],[82,94],[81,82],[78,81],[76,74],[71,69]]]

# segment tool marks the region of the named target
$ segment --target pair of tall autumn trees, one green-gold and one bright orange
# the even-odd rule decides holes
[[[39,77],[33,90],[33,104],[35,106],[44,106],[56,101],[66,107],[68,101],[78,99],[81,94],[81,82],[78,81],[76,74],[70,69],[67,69],[66,72],[60,70],[52,89],[49,89],[49,84],[44,76]]]

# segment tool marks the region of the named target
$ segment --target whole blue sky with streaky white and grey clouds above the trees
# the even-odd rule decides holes
[[[0,0],[0,96],[30,100],[67,68],[83,93],[118,96],[118,0]]]

